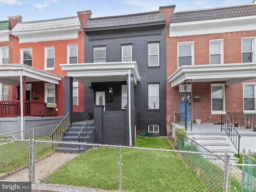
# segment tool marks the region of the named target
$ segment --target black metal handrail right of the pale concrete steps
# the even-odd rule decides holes
[[[238,133],[238,131],[236,130],[235,126],[230,122],[230,120],[227,117],[227,115],[226,114],[224,115],[225,116],[225,122],[222,122],[222,120],[223,120],[222,116],[223,115],[221,115],[221,131],[225,130],[226,134],[228,135],[228,137],[230,138],[231,142],[233,143],[233,145],[235,146],[236,150],[238,151],[238,157],[239,157],[241,135]],[[223,128],[222,128],[222,126],[223,126]]]

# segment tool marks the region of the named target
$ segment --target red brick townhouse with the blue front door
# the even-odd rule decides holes
[[[175,121],[256,113],[255,3],[174,12],[166,53],[167,135]]]

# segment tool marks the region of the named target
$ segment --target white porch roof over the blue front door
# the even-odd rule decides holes
[[[232,63],[181,66],[168,77],[172,87],[192,82],[224,81],[226,85],[245,82],[256,78],[256,63]]]

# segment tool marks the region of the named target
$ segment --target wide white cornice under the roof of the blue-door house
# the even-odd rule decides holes
[[[255,30],[256,16],[170,23],[170,37]]]

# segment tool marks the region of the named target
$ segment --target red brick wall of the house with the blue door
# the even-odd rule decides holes
[[[242,62],[241,38],[245,37],[256,37],[256,31],[229,32],[222,34],[206,34],[167,38],[167,78],[178,69],[178,42],[194,42],[194,64],[203,65],[210,63],[209,40],[223,39],[224,64],[228,64]],[[256,81],[253,80],[250,82]],[[220,115],[211,114],[211,83],[214,84],[224,82],[203,82],[192,84],[193,96],[199,95],[201,97],[200,102],[192,102],[193,120],[199,118],[202,119],[203,123],[220,121]],[[243,112],[243,84],[240,83],[231,86],[225,86],[225,90],[226,112]],[[176,88],[171,88],[170,84],[167,83],[166,120],[167,126],[170,126],[170,132],[167,133],[167,135],[171,135],[171,123],[174,122],[174,113],[179,112],[178,92],[178,86]]]

